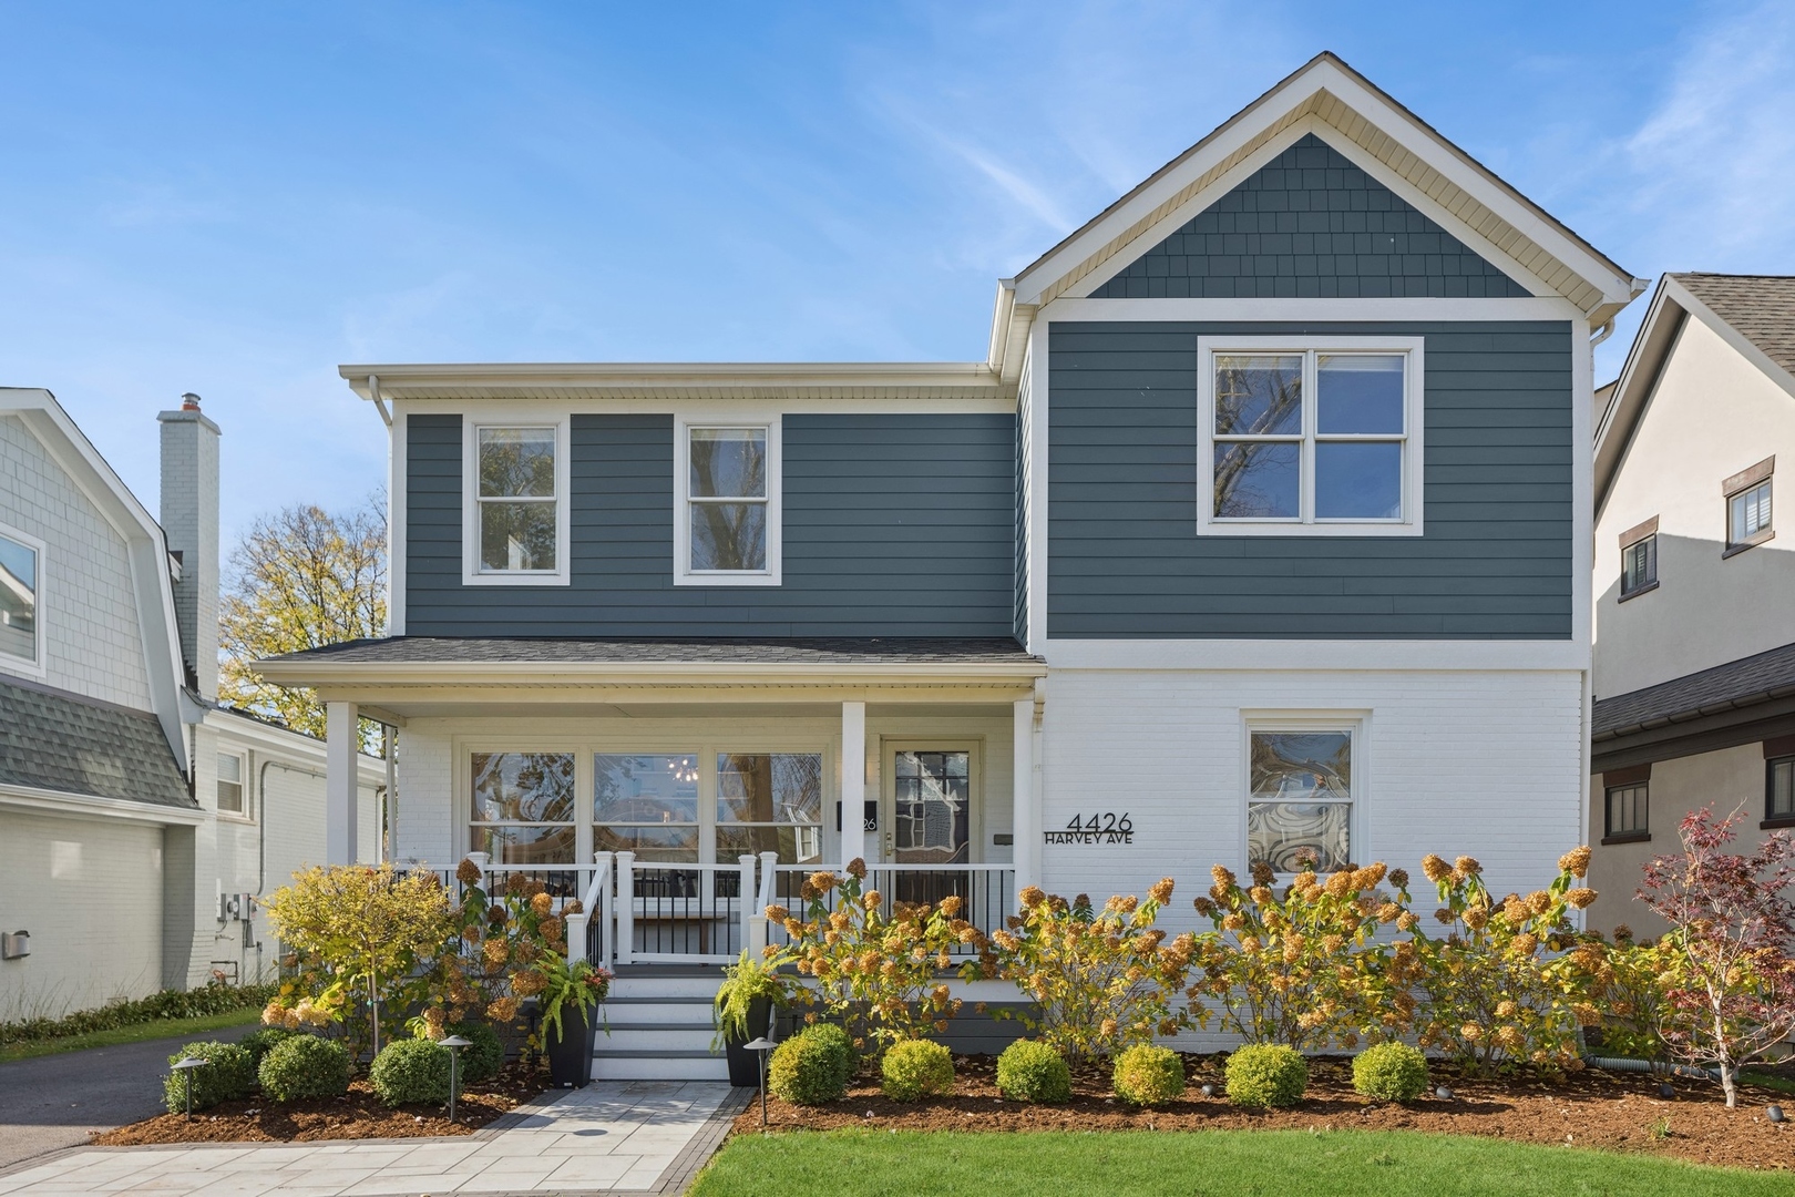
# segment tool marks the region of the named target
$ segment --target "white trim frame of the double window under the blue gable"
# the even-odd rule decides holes
[[[1215,355],[1217,354],[1303,354],[1303,427],[1289,443],[1300,447],[1300,502],[1298,519],[1221,519],[1213,513],[1215,490]],[[1316,361],[1319,354],[1384,354],[1405,359],[1402,371],[1402,519],[1318,519],[1316,504],[1316,427],[1318,397]],[[1425,339],[1423,337],[1197,337],[1197,535],[1199,537],[1420,537],[1422,524],[1422,467],[1425,459],[1423,395],[1425,395]],[[1389,438],[1368,436],[1377,443]]]

